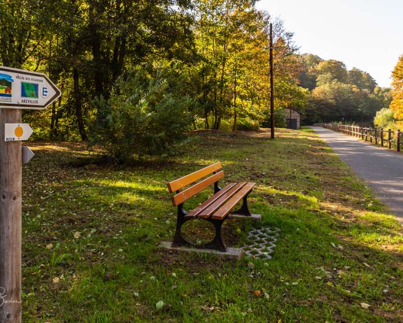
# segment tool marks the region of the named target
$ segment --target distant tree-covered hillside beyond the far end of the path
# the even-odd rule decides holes
[[[390,90],[377,86],[368,73],[355,67],[347,71],[343,62],[310,54],[301,58],[300,84],[311,89],[306,123],[372,121],[376,111],[388,107]]]

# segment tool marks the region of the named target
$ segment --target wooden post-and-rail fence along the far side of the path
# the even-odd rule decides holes
[[[402,134],[400,130],[385,130],[383,128],[366,128],[354,125],[339,125],[332,123],[321,123],[318,126],[339,131],[341,133],[349,134],[355,137],[361,137],[362,140],[375,143],[375,145],[380,144],[382,147],[388,147],[389,149],[396,148],[400,151],[400,145],[403,142]]]

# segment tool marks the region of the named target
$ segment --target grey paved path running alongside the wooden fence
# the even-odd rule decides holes
[[[312,127],[329,147],[371,186],[403,223],[403,153],[366,143],[357,137]]]

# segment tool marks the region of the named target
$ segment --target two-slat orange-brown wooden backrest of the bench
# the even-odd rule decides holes
[[[199,182],[194,184],[193,186],[177,193],[176,195],[172,196],[172,203],[173,205],[179,205],[186,201],[187,199],[191,198],[195,194],[200,191],[203,191],[205,188],[209,187],[211,184],[219,181],[224,177],[224,171],[220,171],[221,163],[215,163],[213,165],[207,166],[203,169],[200,169],[194,173],[186,175],[184,177],[175,179],[168,183],[168,190],[169,192],[179,191],[185,186],[188,186],[191,183],[194,183],[196,180],[200,178],[206,177],[211,173],[215,173]]]

